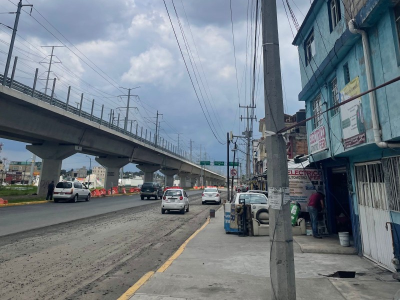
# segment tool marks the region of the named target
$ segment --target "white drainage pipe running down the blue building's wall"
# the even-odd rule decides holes
[[[348,30],[350,30],[350,32],[354,34],[361,34],[362,50],[364,52],[364,61],[365,61],[366,81],[368,84],[368,89],[371,89],[374,87],[374,84],[371,71],[371,55],[369,49],[368,34],[366,33],[365,30],[356,28],[356,26],[357,25],[354,19],[348,21]],[[369,95],[369,106],[371,107],[373,138],[375,140],[376,145],[380,148],[400,147],[400,142],[382,141],[382,136],[379,128],[379,116],[377,113],[375,91],[369,92],[368,95]]]

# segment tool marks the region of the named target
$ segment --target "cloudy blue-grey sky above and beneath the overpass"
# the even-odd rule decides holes
[[[285,2],[301,24],[309,1]],[[16,4],[17,0],[0,2],[1,73],[11,38],[11,30],[2,24],[13,26],[15,14],[7,12],[16,11]],[[108,119],[105,115],[115,109],[114,117],[119,112],[122,122],[126,108],[116,107],[126,106],[127,92],[121,87],[135,88],[129,106],[137,109],[130,108],[128,117],[133,128],[137,123],[139,130],[143,127],[154,134],[158,110],[162,138],[175,145],[179,138],[179,147],[187,152],[191,141],[193,159],[199,159],[201,152],[202,160],[226,161],[226,132],[241,135],[245,130],[246,122],[240,116],[246,111],[238,106],[250,105],[252,99],[255,0],[22,0],[22,4],[33,4],[33,9],[29,15],[30,7],[23,7],[19,17],[12,52],[18,56],[15,80],[32,86],[35,68],[39,68],[36,89],[44,91],[49,46],[60,46],[54,48],[49,75],[57,78],[56,97],[65,99],[70,85],[69,103],[78,105],[83,92],[82,109],[90,111],[94,99],[96,115],[104,104],[103,118]],[[291,29],[296,31],[283,1],[277,1],[277,10],[283,102],[285,113],[294,114],[304,108],[297,97],[301,89],[297,48],[291,44]],[[261,36],[257,37],[260,41]],[[259,46],[255,53],[253,137],[257,138],[258,120],[264,116]],[[1,158],[31,159],[25,143],[1,137],[0,142],[4,144]],[[244,141],[238,144],[244,151]],[[244,170],[244,154],[239,153]],[[98,165],[90,158],[91,166]],[[77,153],[64,159],[62,168],[88,168],[89,161]],[[136,168],[129,164],[124,170]]]

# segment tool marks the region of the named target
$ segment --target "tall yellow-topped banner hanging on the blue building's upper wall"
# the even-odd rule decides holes
[[[339,92],[339,102],[360,93],[359,80],[355,77]],[[365,142],[364,114],[361,97],[340,106],[344,148]]]

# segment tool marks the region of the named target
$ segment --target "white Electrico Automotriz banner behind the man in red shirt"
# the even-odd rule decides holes
[[[315,168],[288,169],[290,201],[297,201],[301,211],[307,211],[309,196],[314,192],[325,193],[323,172]]]

